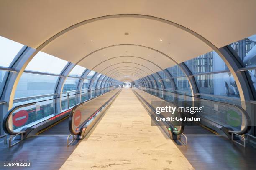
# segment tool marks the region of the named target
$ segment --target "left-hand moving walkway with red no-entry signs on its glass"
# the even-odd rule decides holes
[[[108,87],[13,107],[3,120],[3,129],[10,135],[9,147],[34,135],[78,135],[80,130],[77,129],[81,123],[87,125],[89,120],[95,118],[112,101],[119,90]],[[58,112],[58,108],[53,108],[53,102],[61,102],[64,108],[66,102],[66,109]],[[82,114],[80,112],[77,119],[77,108],[80,107],[84,111],[81,111]],[[75,129],[72,128],[74,125],[77,125]]]

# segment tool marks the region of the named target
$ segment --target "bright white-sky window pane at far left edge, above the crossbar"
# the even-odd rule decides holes
[[[0,66],[9,67],[24,45],[0,36]]]

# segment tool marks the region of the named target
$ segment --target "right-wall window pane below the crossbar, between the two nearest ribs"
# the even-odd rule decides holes
[[[230,72],[195,76],[200,93],[239,97],[234,77]]]

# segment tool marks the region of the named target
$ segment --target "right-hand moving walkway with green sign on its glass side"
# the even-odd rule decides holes
[[[159,107],[160,105],[204,108],[202,113],[197,113],[195,115],[191,115],[186,112],[175,112],[174,115],[166,113],[164,113],[165,115],[160,114],[159,116],[162,117],[167,117],[169,115],[172,117],[200,117],[200,121],[194,121],[192,123],[186,122],[186,124],[184,121],[158,122],[161,124],[160,127],[171,139],[181,140],[181,136],[184,136],[186,142],[182,143],[187,145],[188,135],[221,135],[246,147],[245,134],[248,133],[251,128],[251,121],[248,113],[240,106],[187,95],[180,95],[172,92],[148,89],[145,87],[140,87],[140,89],[133,88],[133,92],[141,100],[146,110],[151,113],[151,116],[153,116],[152,120],[155,120],[155,110],[156,107]],[[247,138],[250,137],[250,135],[247,135]],[[241,140],[242,143],[237,140]]]

